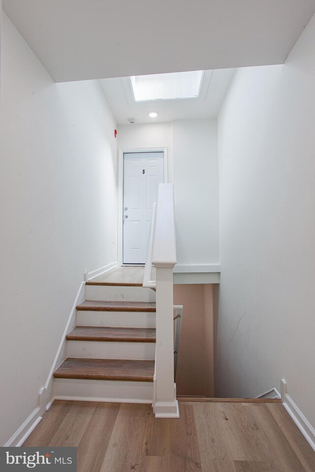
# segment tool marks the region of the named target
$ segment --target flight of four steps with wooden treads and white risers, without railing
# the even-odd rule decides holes
[[[87,282],[54,372],[55,398],[153,402],[156,294],[140,284]]]

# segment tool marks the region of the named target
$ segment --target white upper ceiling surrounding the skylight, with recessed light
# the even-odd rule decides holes
[[[101,79],[100,86],[118,124],[128,124],[127,118],[137,119],[137,123],[156,123],[175,119],[215,118],[226,94],[235,69],[217,69],[207,71],[210,76],[205,96],[200,99],[170,100],[164,103],[155,101],[151,104],[130,103],[126,94],[126,80]],[[124,81],[124,82],[123,82]],[[131,88],[130,88],[131,94]],[[148,113],[158,112],[157,118],[150,118]]]

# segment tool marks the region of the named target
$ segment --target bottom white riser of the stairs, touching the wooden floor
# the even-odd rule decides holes
[[[151,403],[153,382],[54,379],[54,396],[69,400]]]

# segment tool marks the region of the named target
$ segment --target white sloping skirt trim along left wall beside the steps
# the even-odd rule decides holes
[[[39,408],[40,408],[41,414],[45,413],[45,411],[48,410],[52,404],[53,380],[54,380],[53,373],[56,370],[57,365],[60,365],[66,357],[65,337],[68,334],[68,332],[71,331],[71,329],[76,325],[76,306],[82,301],[84,301],[84,299],[85,299],[85,282],[83,281],[81,282],[80,288],[77,292],[74,303],[72,305],[70,315],[68,317],[67,324],[64,328],[63,336],[61,338],[57,354],[55,356],[53,365],[47,377],[47,381],[45,385],[39,390],[38,397],[39,397]]]

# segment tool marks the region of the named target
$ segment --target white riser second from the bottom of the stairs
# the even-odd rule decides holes
[[[67,341],[67,357],[154,360],[155,343]]]

